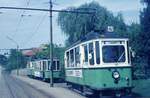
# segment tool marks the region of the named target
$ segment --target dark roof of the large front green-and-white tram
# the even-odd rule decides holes
[[[82,36],[80,38],[80,40],[78,40],[76,43],[74,43],[73,45],[71,45],[68,48],[71,48],[71,47],[73,47],[77,44],[80,44],[82,42],[86,42],[86,41],[94,40],[94,39],[103,39],[103,38],[106,38],[106,39],[110,39],[110,38],[113,38],[113,39],[127,39],[128,37],[121,37],[119,34],[117,34],[115,32],[101,33],[101,32],[92,31],[92,32],[88,33],[87,35]]]

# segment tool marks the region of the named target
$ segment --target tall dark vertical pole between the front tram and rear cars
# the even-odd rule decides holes
[[[50,53],[50,86],[53,87],[53,21],[52,21],[52,0],[50,0],[50,8],[49,8],[49,13],[50,13],[50,45],[49,45],[49,53]]]

